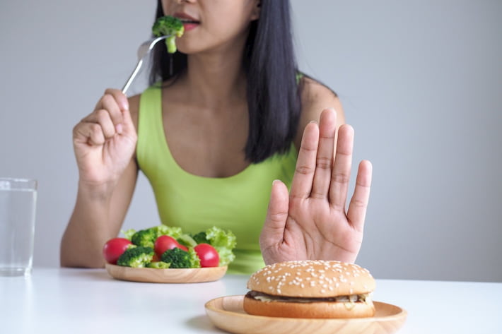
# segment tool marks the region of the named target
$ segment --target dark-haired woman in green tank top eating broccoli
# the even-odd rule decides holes
[[[293,259],[355,261],[371,165],[361,162],[345,210],[354,131],[337,129],[337,95],[297,75],[288,6],[158,1],[157,17],[182,19],[185,34],[172,59],[158,48],[151,88],[129,100],[106,90],[75,126],[78,195],[62,266],[103,266],[101,249],[119,233],[140,169],[163,224],[237,235],[230,272]]]

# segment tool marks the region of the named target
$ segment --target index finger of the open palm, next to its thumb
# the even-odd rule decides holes
[[[315,157],[319,141],[319,127],[315,122],[305,126],[303,138],[296,160],[296,170],[291,182],[291,196],[308,198],[312,191],[312,182],[315,172]]]

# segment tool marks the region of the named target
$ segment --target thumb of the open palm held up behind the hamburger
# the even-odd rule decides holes
[[[267,217],[260,236],[260,246],[267,249],[280,244],[284,239],[284,228],[288,218],[289,194],[286,184],[279,180],[272,183]]]

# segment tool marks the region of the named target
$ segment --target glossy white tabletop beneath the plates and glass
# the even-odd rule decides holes
[[[0,333],[223,333],[204,304],[245,294],[247,278],[150,284],[104,269],[34,268],[30,278],[0,278]],[[502,283],[377,279],[374,299],[408,311],[398,333],[502,333]]]

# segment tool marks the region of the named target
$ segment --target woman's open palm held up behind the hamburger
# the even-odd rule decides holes
[[[291,192],[274,181],[267,218],[260,236],[265,263],[291,260],[354,262],[361,249],[371,184],[371,164],[362,161],[349,208],[346,198],[354,129],[337,131],[336,113],[325,109],[319,124],[305,127]]]

